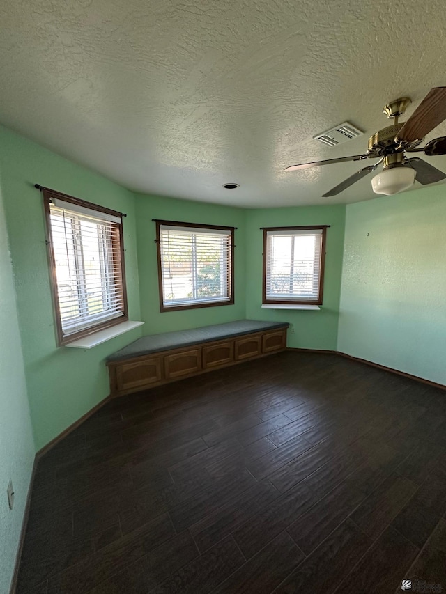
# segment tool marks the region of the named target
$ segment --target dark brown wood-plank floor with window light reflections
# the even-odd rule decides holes
[[[17,593],[446,591],[445,426],[335,354],[116,398],[38,463]]]

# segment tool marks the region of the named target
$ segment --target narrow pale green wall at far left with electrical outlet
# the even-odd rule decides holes
[[[7,593],[34,460],[33,434],[0,187],[0,592]],[[13,480],[15,501],[9,510],[6,490]]]

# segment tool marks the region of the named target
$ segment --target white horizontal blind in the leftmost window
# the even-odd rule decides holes
[[[120,221],[68,202],[56,204],[49,205],[49,221],[67,337],[124,315]]]

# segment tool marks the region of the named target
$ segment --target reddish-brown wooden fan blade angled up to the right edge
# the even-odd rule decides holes
[[[446,87],[438,86],[427,93],[398,132],[398,139],[408,142],[422,139],[443,120],[446,120]]]

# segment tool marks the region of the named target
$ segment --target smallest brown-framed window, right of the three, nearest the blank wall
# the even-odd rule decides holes
[[[326,226],[263,229],[263,304],[322,304]]]

